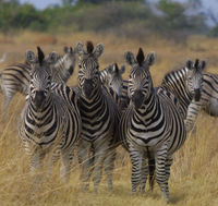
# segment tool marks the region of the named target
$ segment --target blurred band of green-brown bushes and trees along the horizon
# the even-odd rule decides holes
[[[161,15],[144,0],[62,0],[43,11],[16,0],[0,2],[0,31],[32,29],[44,32],[92,31],[138,37],[149,33],[177,36],[206,31],[204,19],[186,16],[178,2],[160,0]]]

